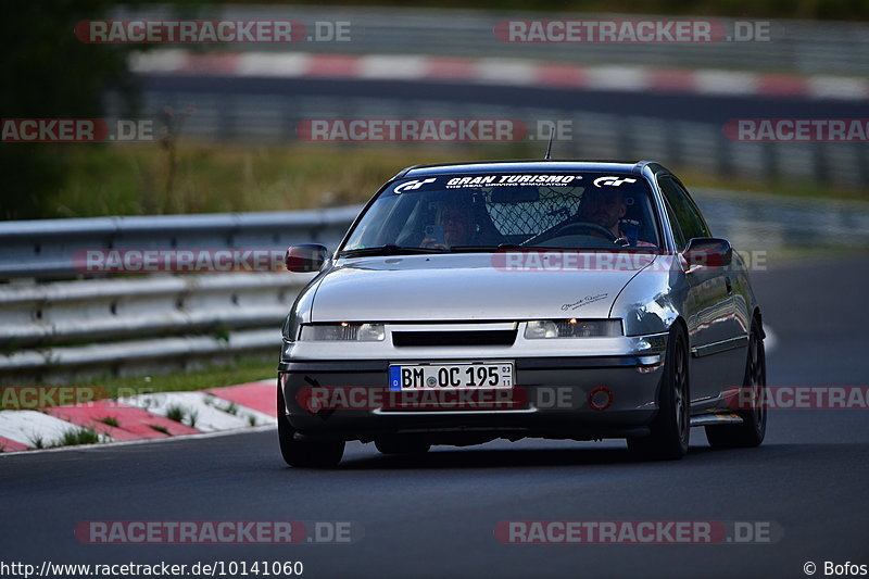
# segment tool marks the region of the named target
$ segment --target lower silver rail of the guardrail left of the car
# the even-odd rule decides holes
[[[274,327],[310,278],[284,272],[0,286],[0,343],[39,347]]]

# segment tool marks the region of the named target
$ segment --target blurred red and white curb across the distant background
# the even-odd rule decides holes
[[[194,54],[182,49],[166,49],[135,53],[130,58],[130,68],[140,74],[461,81],[629,92],[841,100],[869,98],[869,80],[857,77],[620,65],[584,66],[520,59],[415,54],[357,55],[306,52]]]

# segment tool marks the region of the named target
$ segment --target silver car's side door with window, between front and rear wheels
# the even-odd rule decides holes
[[[691,239],[711,237],[700,210],[676,178],[662,176],[658,185],[679,251],[683,251]],[[744,348],[741,348],[740,337],[745,332],[735,315],[729,268],[689,267],[685,277],[691,398],[702,402],[717,398],[725,388],[742,383]]]

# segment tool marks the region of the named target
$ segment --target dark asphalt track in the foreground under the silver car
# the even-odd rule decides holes
[[[774,265],[774,264],[773,264]],[[865,385],[869,259],[755,273],[772,385]],[[805,577],[869,564],[866,412],[771,413],[759,449],[633,462],[620,441],[493,442],[421,458],[351,444],[335,470],[282,465],[274,431],[0,457],[0,561],[302,561],[303,577]],[[354,544],[88,545],[83,520],[340,520]],[[508,545],[502,520],[764,520],[769,544]]]

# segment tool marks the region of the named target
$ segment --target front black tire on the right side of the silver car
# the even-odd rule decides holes
[[[688,340],[673,324],[667,340],[664,375],[658,389],[658,413],[645,438],[629,438],[628,449],[643,458],[678,461],[688,453],[691,438],[691,380]]]

